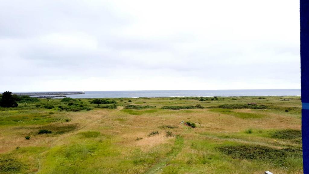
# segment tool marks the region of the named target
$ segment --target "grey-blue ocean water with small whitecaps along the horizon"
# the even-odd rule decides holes
[[[228,96],[300,96],[300,89],[241,89],[241,90],[156,90],[156,91],[85,91],[66,95],[71,98],[138,98],[138,97],[228,97]]]

